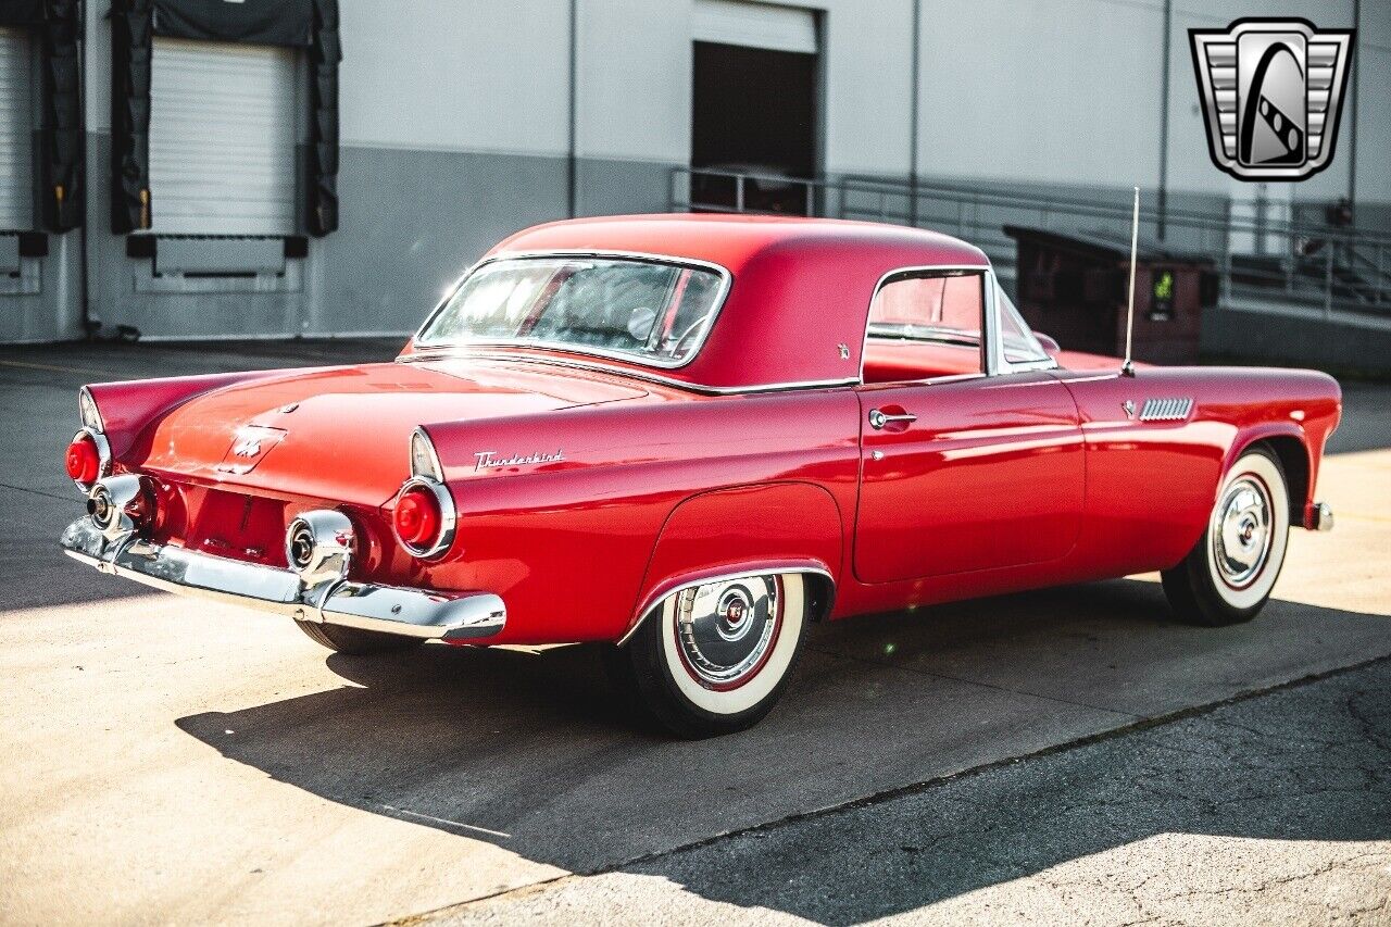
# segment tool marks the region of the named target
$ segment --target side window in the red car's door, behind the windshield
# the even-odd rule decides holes
[[[865,381],[983,373],[983,276],[889,280],[869,305]]]

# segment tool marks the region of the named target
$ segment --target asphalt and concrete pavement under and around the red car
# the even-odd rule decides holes
[[[701,743],[584,647],[342,657],[57,551],[82,383],[396,347],[0,349],[0,921],[1391,921],[1391,387],[1256,622],[1153,576],[837,622]]]

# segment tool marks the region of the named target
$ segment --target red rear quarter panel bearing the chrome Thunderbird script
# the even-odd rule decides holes
[[[426,426],[459,529],[444,561],[402,564],[405,579],[498,593],[508,626],[495,643],[549,643],[620,637],[668,573],[804,546],[839,576],[858,483],[854,394],[666,399]],[[563,459],[479,469],[484,451]]]

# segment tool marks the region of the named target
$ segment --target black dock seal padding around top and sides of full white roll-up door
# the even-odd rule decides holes
[[[3,0],[0,0],[3,1]],[[303,47],[309,53],[305,217],[310,235],[338,228],[338,0],[111,1],[111,230],[150,227],[150,38]],[[288,167],[287,167],[288,170]]]

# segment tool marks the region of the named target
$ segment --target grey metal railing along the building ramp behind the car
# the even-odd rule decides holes
[[[672,207],[679,212],[804,214],[932,228],[964,238],[1014,276],[1015,242],[1004,225],[1129,241],[1128,193],[1117,202],[979,188],[842,178],[812,181],[775,174],[676,168]],[[1391,237],[1308,220],[1280,220],[1166,209],[1141,210],[1141,231],[1163,248],[1207,258],[1223,301],[1278,302],[1331,315],[1391,316]]]

